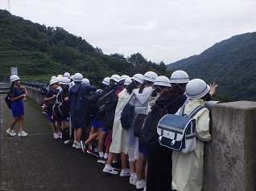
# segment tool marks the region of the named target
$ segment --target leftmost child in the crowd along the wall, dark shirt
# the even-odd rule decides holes
[[[52,79],[49,84],[50,88],[48,89],[43,101],[44,102],[52,102],[52,106],[54,102],[56,102],[56,96],[58,94],[58,81],[56,79]],[[49,109],[49,108],[48,108]],[[60,120],[56,120],[56,117],[52,115],[51,108],[49,111],[47,111],[48,120],[51,121],[51,128],[53,133],[54,139],[60,139],[61,136],[61,130],[60,130]],[[57,127],[56,127],[56,121],[57,121]]]

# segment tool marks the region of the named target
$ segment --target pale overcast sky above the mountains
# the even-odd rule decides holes
[[[9,10],[8,1],[0,9]],[[64,27],[105,54],[172,63],[256,31],[255,0],[10,0],[14,15]]]

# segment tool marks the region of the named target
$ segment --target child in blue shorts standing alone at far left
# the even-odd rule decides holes
[[[23,130],[23,116],[24,116],[24,104],[23,98],[28,96],[27,89],[24,86],[19,85],[20,79],[18,75],[10,76],[10,97],[11,97],[11,112],[14,120],[10,124],[10,128],[6,132],[10,136],[16,136],[14,132],[14,125],[19,121],[19,133],[18,136],[27,136],[27,132]]]

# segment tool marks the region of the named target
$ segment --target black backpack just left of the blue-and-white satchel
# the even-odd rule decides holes
[[[171,101],[172,103],[172,101]],[[169,104],[171,104],[169,103]],[[145,148],[163,148],[159,144],[159,135],[157,134],[157,125],[159,120],[165,116],[167,112],[167,104],[154,104],[151,108],[151,112],[147,114],[144,125],[140,131],[138,138],[139,145]]]

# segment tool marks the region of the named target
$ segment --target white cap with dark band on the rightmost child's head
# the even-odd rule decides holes
[[[196,100],[204,97],[210,90],[203,79],[192,79],[186,86],[186,95],[189,99]]]

